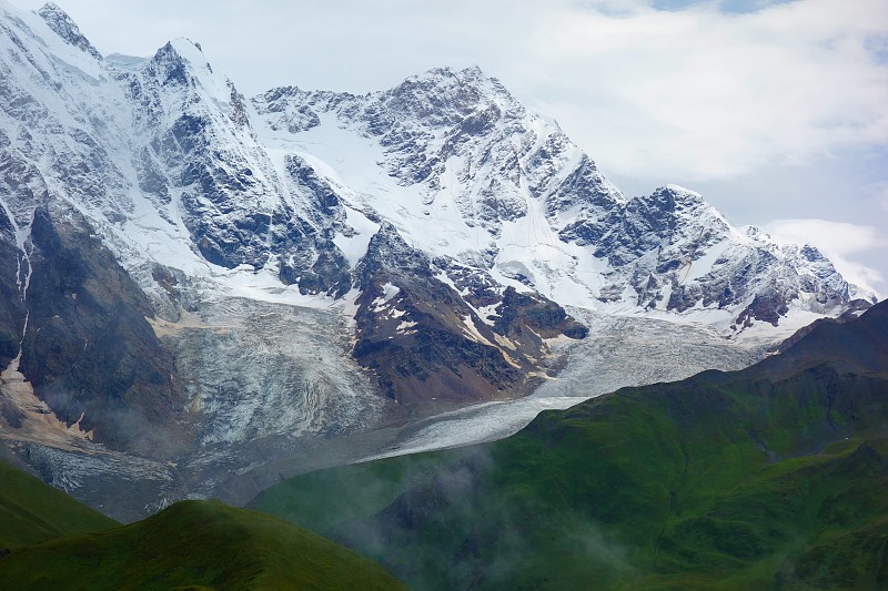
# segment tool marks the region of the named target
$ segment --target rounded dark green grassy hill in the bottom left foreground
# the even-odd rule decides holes
[[[0,589],[403,589],[370,560],[275,517],[182,501],[138,523],[20,549]]]

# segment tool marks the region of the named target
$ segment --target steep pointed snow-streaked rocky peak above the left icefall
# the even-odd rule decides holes
[[[349,291],[347,263],[332,242],[344,227],[335,195],[297,157],[274,169],[243,96],[195,45],[168,43],[124,82],[147,132],[135,147],[139,186],[162,217],[181,220],[206,262],[274,266],[303,292]]]

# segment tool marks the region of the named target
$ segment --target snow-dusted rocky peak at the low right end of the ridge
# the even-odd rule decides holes
[[[609,263],[601,299],[625,297],[629,286],[646,309],[739,310],[731,328],[777,326],[790,305],[826,313],[855,298],[815,247],[778,246],[756,228],[741,233],[699,194],[675,185],[604,217],[584,215],[561,235]]]

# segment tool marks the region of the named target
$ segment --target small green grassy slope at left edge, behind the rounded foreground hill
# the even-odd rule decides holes
[[[113,519],[0,461],[0,550],[117,526]]]

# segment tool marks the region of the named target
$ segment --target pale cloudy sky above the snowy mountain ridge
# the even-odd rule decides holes
[[[200,42],[246,94],[363,92],[477,64],[626,194],[688,186],[888,295],[886,0],[57,3],[104,52]]]

